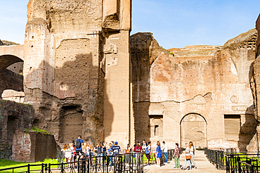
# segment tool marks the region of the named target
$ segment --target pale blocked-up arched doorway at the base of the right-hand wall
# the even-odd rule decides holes
[[[207,122],[202,115],[189,113],[181,120],[181,147],[193,141],[195,147],[207,147]]]

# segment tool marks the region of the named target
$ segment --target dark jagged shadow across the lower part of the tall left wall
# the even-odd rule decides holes
[[[91,53],[77,53],[75,47],[66,44],[60,49],[56,49],[54,67],[43,61],[26,76],[25,87],[31,84],[34,88],[25,89],[25,103],[32,103],[37,112],[34,125],[51,132],[60,146],[79,135],[85,142],[96,144],[104,140],[105,74],[93,65]],[[96,64],[102,56],[99,58]],[[41,69],[44,91],[35,87]]]

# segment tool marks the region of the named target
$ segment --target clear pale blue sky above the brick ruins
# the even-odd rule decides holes
[[[259,0],[132,0],[132,32],[152,32],[165,49],[223,45],[255,27]],[[23,44],[28,0],[0,0],[0,39]]]

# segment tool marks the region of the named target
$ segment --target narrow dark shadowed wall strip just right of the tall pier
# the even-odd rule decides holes
[[[132,63],[134,128],[135,139],[147,142],[157,135],[160,127],[152,124],[155,117],[150,117],[150,46],[151,33],[137,33],[130,37]]]

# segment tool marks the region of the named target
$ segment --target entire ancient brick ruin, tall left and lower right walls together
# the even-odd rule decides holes
[[[223,46],[165,50],[152,33],[130,37],[131,0],[30,0],[27,7],[24,45],[0,48],[2,78],[23,63],[23,81],[9,75],[0,91],[24,91],[2,98],[32,105],[25,127],[46,129],[59,144],[81,134],[93,144],[257,149],[259,20],[257,30]]]

